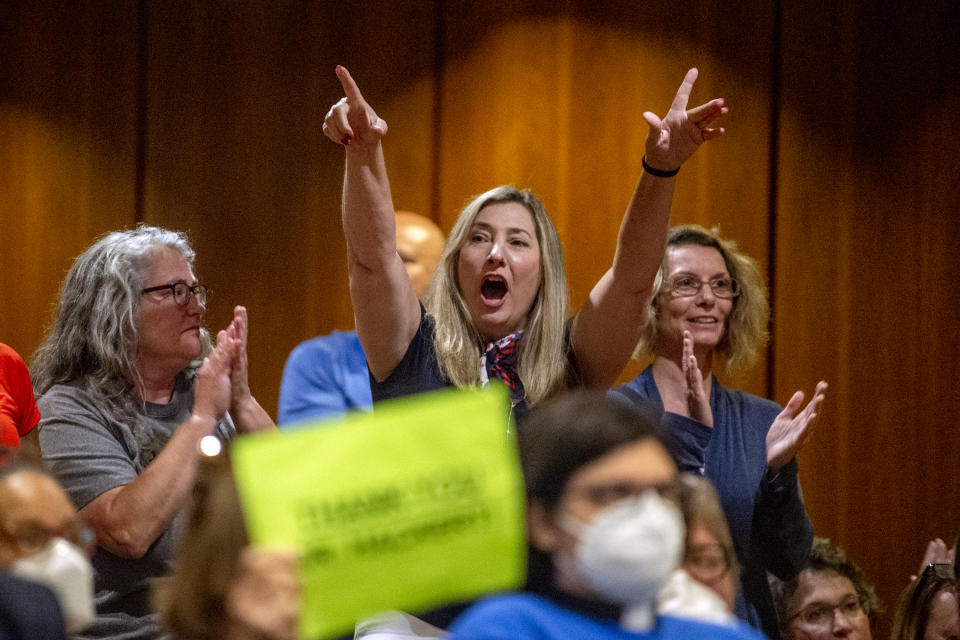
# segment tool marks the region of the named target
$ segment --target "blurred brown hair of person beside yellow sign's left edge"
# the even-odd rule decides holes
[[[227,595],[247,543],[227,454],[203,458],[174,570],[153,592],[164,631],[191,640],[222,637],[229,618]]]

